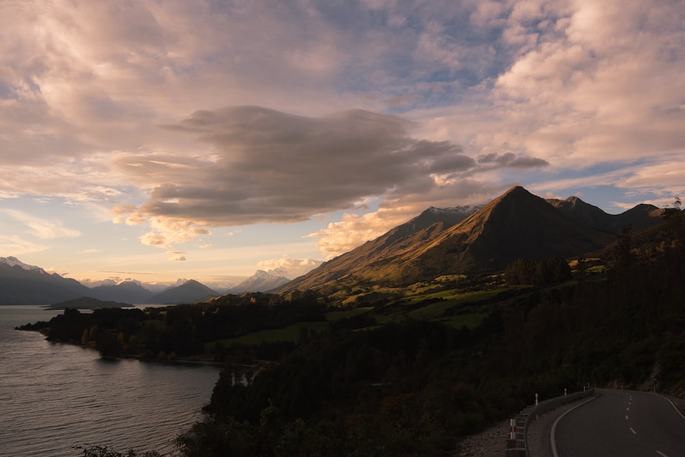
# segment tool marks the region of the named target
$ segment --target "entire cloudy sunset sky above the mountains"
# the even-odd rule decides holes
[[[0,257],[295,275],[513,185],[685,196],[682,0],[0,0]]]

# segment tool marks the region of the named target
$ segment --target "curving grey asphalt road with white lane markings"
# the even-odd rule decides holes
[[[552,429],[558,457],[685,456],[685,417],[654,393],[597,389]]]

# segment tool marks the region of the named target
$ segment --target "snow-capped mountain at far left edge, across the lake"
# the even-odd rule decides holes
[[[49,304],[88,296],[77,280],[50,274],[16,257],[0,257],[0,304]]]

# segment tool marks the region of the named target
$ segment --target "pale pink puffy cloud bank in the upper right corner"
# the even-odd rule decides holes
[[[685,31],[673,19],[682,18],[682,5],[546,3],[542,11],[556,25],[497,77],[499,131],[556,166],[682,151],[685,116],[672,109],[685,96]],[[516,24],[525,21],[510,18],[509,27]]]

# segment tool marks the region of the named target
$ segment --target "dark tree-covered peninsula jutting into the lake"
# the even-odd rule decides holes
[[[282,328],[294,322],[324,320],[325,304],[316,293],[291,293],[284,298],[267,293],[223,296],[200,304],[161,308],[96,309],[81,313],[65,309],[50,322],[21,326],[40,330],[51,341],[89,345],[103,356],[132,355],[143,358],[197,356],[205,344],[254,330]],[[225,349],[216,351],[225,356]],[[262,348],[262,354],[279,352]],[[282,350],[281,350],[282,352]]]

